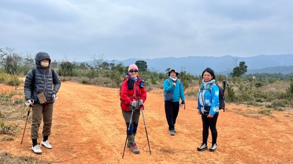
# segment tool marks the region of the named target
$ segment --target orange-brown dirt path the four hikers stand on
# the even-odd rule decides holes
[[[118,89],[63,82],[53,114],[53,148],[42,147],[36,155],[31,146],[30,125],[23,144],[0,142],[0,150],[17,155],[31,155],[64,164],[292,164],[293,112],[273,111],[258,114],[247,106],[227,105],[218,118],[218,148],[215,152],[196,151],[201,144],[202,122],[195,100],[180,109],[176,134],[170,136],[160,90],[147,93],[144,112],[151,147],[149,154],[141,115],[136,142],[140,154],[126,147],[126,126],[117,96]],[[24,122],[24,121],[23,121]],[[42,129],[40,129],[42,132]],[[42,134],[40,133],[42,138]],[[41,139],[39,140],[39,142]],[[210,146],[211,136],[208,144]]]

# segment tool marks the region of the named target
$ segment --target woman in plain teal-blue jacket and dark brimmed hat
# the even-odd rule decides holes
[[[167,118],[167,123],[169,126],[170,135],[175,135],[175,123],[176,118],[179,113],[179,101],[181,98],[181,104],[185,104],[184,89],[181,80],[177,79],[179,73],[175,69],[171,68],[169,70],[169,78],[164,81],[164,91],[165,91],[165,113]],[[168,99],[168,92],[172,93],[173,99]]]

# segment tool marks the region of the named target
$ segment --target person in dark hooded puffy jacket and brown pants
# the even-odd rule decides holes
[[[31,139],[32,151],[41,154],[41,146],[38,145],[39,128],[43,118],[41,145],[51,149],[48,141],[51,134],[53,104],[58,98],[56,93],[61,86],[58,74],[50,69],[51,59],[47,53],[40,52],[35,58],[36,68],[26,74],[24,82],[24,94],[26,105],[32,105]],[[41,94],[40,94],[41,93]],[[43,96],[43,99],[41,98]]]

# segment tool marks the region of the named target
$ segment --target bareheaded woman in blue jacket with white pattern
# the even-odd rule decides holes
[[[203,122],[203,142],[197,147],[198,151],[208,149],[209,128],[211,132],[211,147],[209,151],[217,148],[217,119],[219,116],[219,88],[215,85],[215,74],[212,69],[206,68],[202,73],[203,84],[198,93],[198,114]]]

